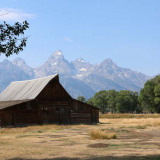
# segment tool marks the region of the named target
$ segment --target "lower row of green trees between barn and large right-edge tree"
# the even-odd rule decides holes
[[[102,90],[90,98],[87,103],[99,107],[102,113],[133,113],[138,108],[138,93],[127,90],[120,92]]]

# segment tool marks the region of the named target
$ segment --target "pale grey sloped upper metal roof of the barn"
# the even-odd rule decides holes
[[[56,74],[44,78],[12,82],[0,94],[0,102],[35,99],[44,87],[56,76],[58,75]]]

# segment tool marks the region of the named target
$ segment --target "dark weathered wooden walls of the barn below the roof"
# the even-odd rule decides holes
[[[72,99],[56,79],[34,100],[0,110],[0,126],[90,124],[99,122],[98,114],[95,107]]]

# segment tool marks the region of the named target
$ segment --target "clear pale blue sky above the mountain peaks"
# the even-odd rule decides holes
[[[0,22],[30,23],[27,47],[9,60],[36,67],[60,49],[69,61],[111,58],[120,67],[160,73],[160,0],[0,0],[4,13]]]

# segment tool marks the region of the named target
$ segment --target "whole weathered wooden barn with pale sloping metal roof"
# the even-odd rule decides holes
[[[12,82],[0,94],[0,127],[98,122],[99,109],[73,99],[58,75]]]

